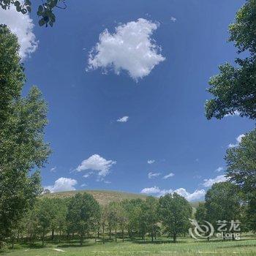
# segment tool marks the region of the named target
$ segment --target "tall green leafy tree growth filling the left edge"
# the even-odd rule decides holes
[[[18,39],[0,26],[0,241],[10,235],[41,192],[38,171],[50,149],[44,143],[47,107],[32,87],[21,97],[25,82]]]

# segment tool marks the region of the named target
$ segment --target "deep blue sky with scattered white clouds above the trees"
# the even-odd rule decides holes
[[[236,115],[207,121],[204,103],[211,98],[208,79],[236,57],[227,26],[242,4],[67,2],[48,29],[37,26],[35,15],[32,29],[27,17],[30,34],[20,37],[29,36],[37,49],[29,45],[30,57],[23,58],[24,93],[31,85],[42,90],[49,105],[45,140],[53,149],[42,184],[53,191],[176,190],[199,200],[214,181],[222,181],[227,147],[236,146],[254,124]],[[7,23],[20,26],[12,14]],[[140,37],[142,45],[129,51]],[[111,61],[112,67],[102,68]]]

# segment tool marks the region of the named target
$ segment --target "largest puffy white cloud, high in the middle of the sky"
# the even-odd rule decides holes
[[[105,29],[99,34],[99,42],[89,53],[89,69],[114,69],[118,75],[121,69],[138,80],[164,61],[151,35],[158,24],[139,18],[116,27],[116,33]]]

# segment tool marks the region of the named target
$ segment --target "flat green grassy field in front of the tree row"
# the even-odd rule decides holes
[[[179,238],[178,243],[170,243],[167,238],[161,241],[101,241],[86,240],[83,246],[78,241],[67,243],[48,243],[42,247],[36,243],[15,244],[14,249],[6,249],[1,255],[10,256],[84,256],[84,255],[256,255],[256,236],[246,236],[240,241],[195,241],[191,238]]]

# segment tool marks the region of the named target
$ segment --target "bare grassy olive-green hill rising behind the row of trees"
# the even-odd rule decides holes
[[[73,191],[64,191],[64,192],[54,192],[50,194],[44,194],[42,197],[59,197],[59,198],[65,198],[65,197],[72,197],[77,193],[83,193],[87,192],[91,194],[101,205],[108,204],[113,201],[121,201],[125,199],[143,199],[145,200],[148,195],[142,195],[142,194],[135,194],[135,193],[129,193],[129,192],[120,192],[120,191],[112,191],[112,190],[97,190],[97,189],[85,189],[85,190],[73,190]],[[193,207],[193,211],[195,211],[195,208],[197,208],[199,202],[190,202],[191,206]]]

